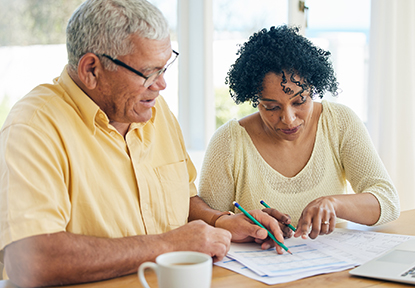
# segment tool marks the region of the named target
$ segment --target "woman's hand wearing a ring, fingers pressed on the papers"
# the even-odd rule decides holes
[[[318,235],[330,234],[336,226],[335,198],[320,197],[310,202],[301,213],[294,237],[315,239]]]

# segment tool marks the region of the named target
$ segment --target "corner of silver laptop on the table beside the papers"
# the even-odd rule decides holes
[[[377,278],[415,285],[415,239],[350,270],[354,276]]]

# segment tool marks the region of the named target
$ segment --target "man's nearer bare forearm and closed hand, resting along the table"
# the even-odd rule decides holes
[[[6,246],[4,264],[19,287],[99,281],[134,273],[160,254],[190,250],[222,259],[231,233],[194,221],[163,234],[100,238],[58,232],[24,238]]]

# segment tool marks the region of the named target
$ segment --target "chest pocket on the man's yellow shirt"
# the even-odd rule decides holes
[[[160,181],[168,223],[175,229],[187,223],[189,217],[189,174],[185,161],[157,167],[156,175]]]

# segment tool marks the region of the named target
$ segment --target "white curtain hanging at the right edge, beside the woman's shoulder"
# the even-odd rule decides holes
[[[368,129],[399,192],[415,208],[415,1],[372,0]]]

